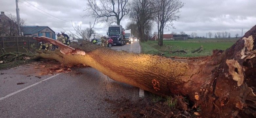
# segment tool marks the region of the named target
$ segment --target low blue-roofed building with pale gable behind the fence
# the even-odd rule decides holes
[[[23,32],[24,36],[45,36],[56,39],[55,32],[48,26],[22,26],[21,31]]]

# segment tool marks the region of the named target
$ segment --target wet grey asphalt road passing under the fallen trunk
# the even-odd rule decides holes
[[[140,52],[139,42],[111,49]],[[43,76],[29,71],[33,68],[0,70],[0,118],[115,118],[106,99],[133,101],[143,93],[90,67]]]

